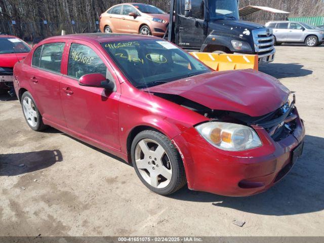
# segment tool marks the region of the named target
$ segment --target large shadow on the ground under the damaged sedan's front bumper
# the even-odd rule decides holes
[[[169,197],[212,203],[260,215],[296,215],[324,210],[324,138],[306,136],[303,155],[292,171],[274,187],[249,197],[228,197],[190,191],[187,187]]]

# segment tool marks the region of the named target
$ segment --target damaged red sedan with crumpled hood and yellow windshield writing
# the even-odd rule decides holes
[[[133,163],[159,194],[186,183],[256,194],[302,153],[303,121],[277,79],[251,69],[215,72],[157,37],[51,37],[14,74],[31,129],[51,126]]]

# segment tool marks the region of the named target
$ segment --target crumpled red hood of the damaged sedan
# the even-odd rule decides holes
[[[290,93],[276,78],[253,69],[210,72],[143,91],[179,95],[210,109],[250,116],[278,109]]]

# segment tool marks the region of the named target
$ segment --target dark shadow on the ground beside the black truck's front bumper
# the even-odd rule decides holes
[[[267,63],[260,65],[259,71],[276,78],[303,77],[313,73],[312,70],[303,68],[299,63]]]

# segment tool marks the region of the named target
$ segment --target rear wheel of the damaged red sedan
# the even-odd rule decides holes
[[[42,131],[47,128],[43,123],[42,115],[39,113],[34,99],[28,91],[21,96],[21,106],[26,122],[32,130]]]

